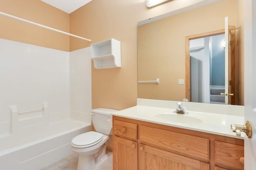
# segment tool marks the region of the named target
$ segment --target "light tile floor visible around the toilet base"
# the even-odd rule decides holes
[[[102,164],[97,170],[113,169],[112,152],[107,150],[106,154],[108,155],[107,161],[104,164]],[[76,170],[77,162],[78,155],[72,154],[70,156],[67,156],[66,158],[63,158],[62,160],[59,160],[58,162],[55,162],[54,164],[51,164],[50,166],[45,167],[42,170]]]

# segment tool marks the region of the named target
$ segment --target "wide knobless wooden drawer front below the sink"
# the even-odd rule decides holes
[[[140,125],[141,143],[209,160],[209,139]]]

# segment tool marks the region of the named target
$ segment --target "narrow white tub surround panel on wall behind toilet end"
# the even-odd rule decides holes
[[[70,110],[88,113],[92,108],[92,69],[90,47],[70,52]],[[81,120],[88,120],[81,117]],[[91,119],[90,119],[91,121]]]

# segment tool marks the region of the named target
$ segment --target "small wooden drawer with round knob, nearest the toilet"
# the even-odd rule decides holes
[[[114,121],[115,135],[137,140],[138,139],[137,129],[138,129],[137,124],[118,121],[118,120]]]

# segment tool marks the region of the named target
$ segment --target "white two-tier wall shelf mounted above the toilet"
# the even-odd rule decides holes
[[[91,44],[91,57],[96,69],[121,67],[121,42],[111,38]]]

